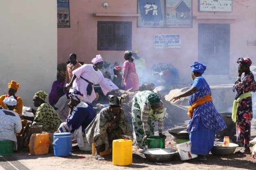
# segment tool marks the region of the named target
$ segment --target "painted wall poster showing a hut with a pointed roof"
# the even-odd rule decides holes
[[[192,28],[192,0],[166,0],[166,28]]]

